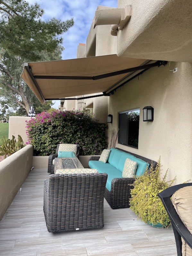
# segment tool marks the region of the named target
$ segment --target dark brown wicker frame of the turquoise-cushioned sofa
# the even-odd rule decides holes
[[[153,168],[155,168],[157,164],[157,162],[152,161],[151,159],[148,159],[144,156],[137,155],[120,148],[117,148],[117,149],[129,154],[132,154],[135,157],[140,158],[145,162],[149,163],[150,164],[148,169],[149,172],[152,166]],[[89,158],[89,161],[91,160],[98,161],[99,158],[100,156],[91,156]],[[131,198],[130,192],[131,192],[131,189],[133,189],[134,181],[135,181],[134,178],[114,178],[111,181],[111,191],[105,188],[105,199],[107,200],[107,202],[109,203],[112,209],[129,207],[129,199]]]

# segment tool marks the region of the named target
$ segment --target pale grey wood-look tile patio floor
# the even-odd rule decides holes
[[[49,233],[43,214],[46,169],[34,169],[0,221],[0,255],[177,256],[172,227],[158,229],[137,220],[129,208],[104,201],[104,227]]]

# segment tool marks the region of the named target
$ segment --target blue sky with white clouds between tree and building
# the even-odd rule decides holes
[[[95,16],[98,5],[117,8],[118,0],[28,0],[29,3],[38,3],[45,11],[44,20],[55,17],[65,21],[74,18],[74,26],[63,34],[62,59],[75,59],[79,43],[86,44],[87,35]],[[58,109],[60,101],[55,101],[54,108]]]

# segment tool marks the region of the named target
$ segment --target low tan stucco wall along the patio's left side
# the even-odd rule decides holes
[[[0,220],[32,167],[33,146],[27,145],[0,162]]]

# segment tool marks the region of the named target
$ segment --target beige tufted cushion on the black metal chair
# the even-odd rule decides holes
[[[184,225],[192,233],[192,186],[184,187],[177,190],[171,197],[175,210]],[[182,256],[191,256],[192,249],[182,239]]]

